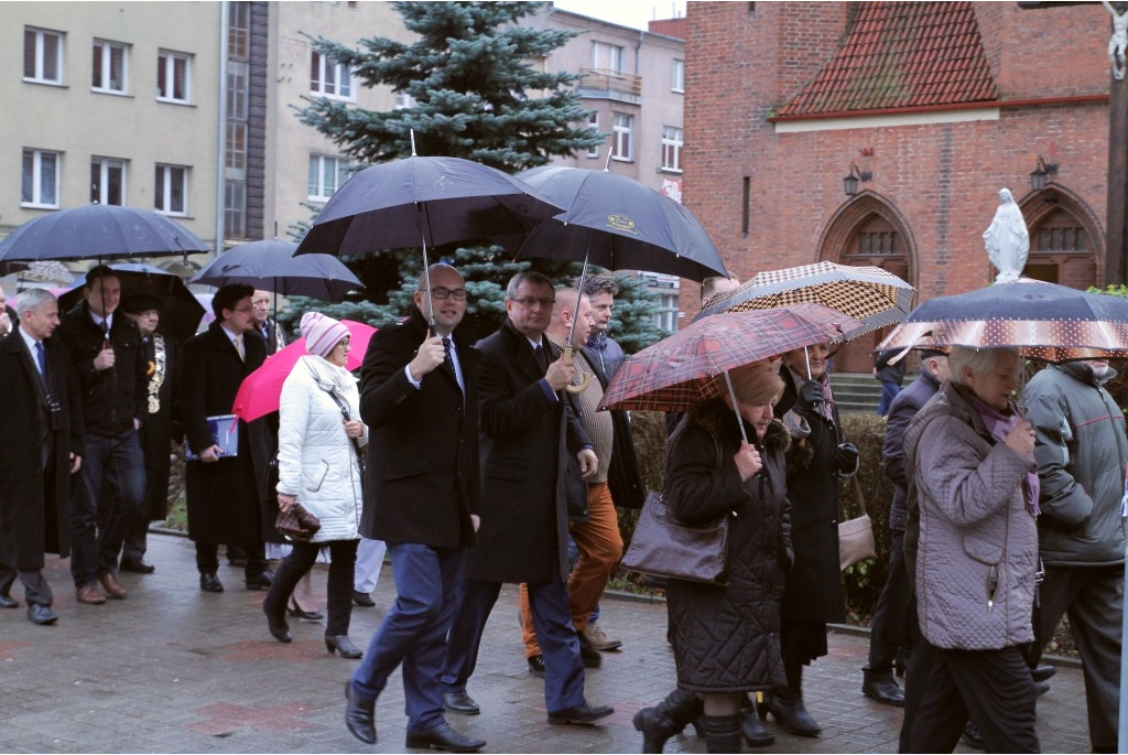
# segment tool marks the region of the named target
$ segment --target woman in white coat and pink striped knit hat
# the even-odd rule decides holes
[[[319,313],[301,318],[308,355],[294,365],[282,385],[279,427],[279,508],[296,502],[316,516],[321,528],[309,542],[294,542],[274,574],[263,602],[271,634],[290,642],[285,609],[294,586],[314,565],[323,547],[329,550],[325,648],[343,658],[360,658],[349,639],[358,527],[363,510],[360,447],[368,428],[358,419],[356,379],[345,369],[349,330]]]

